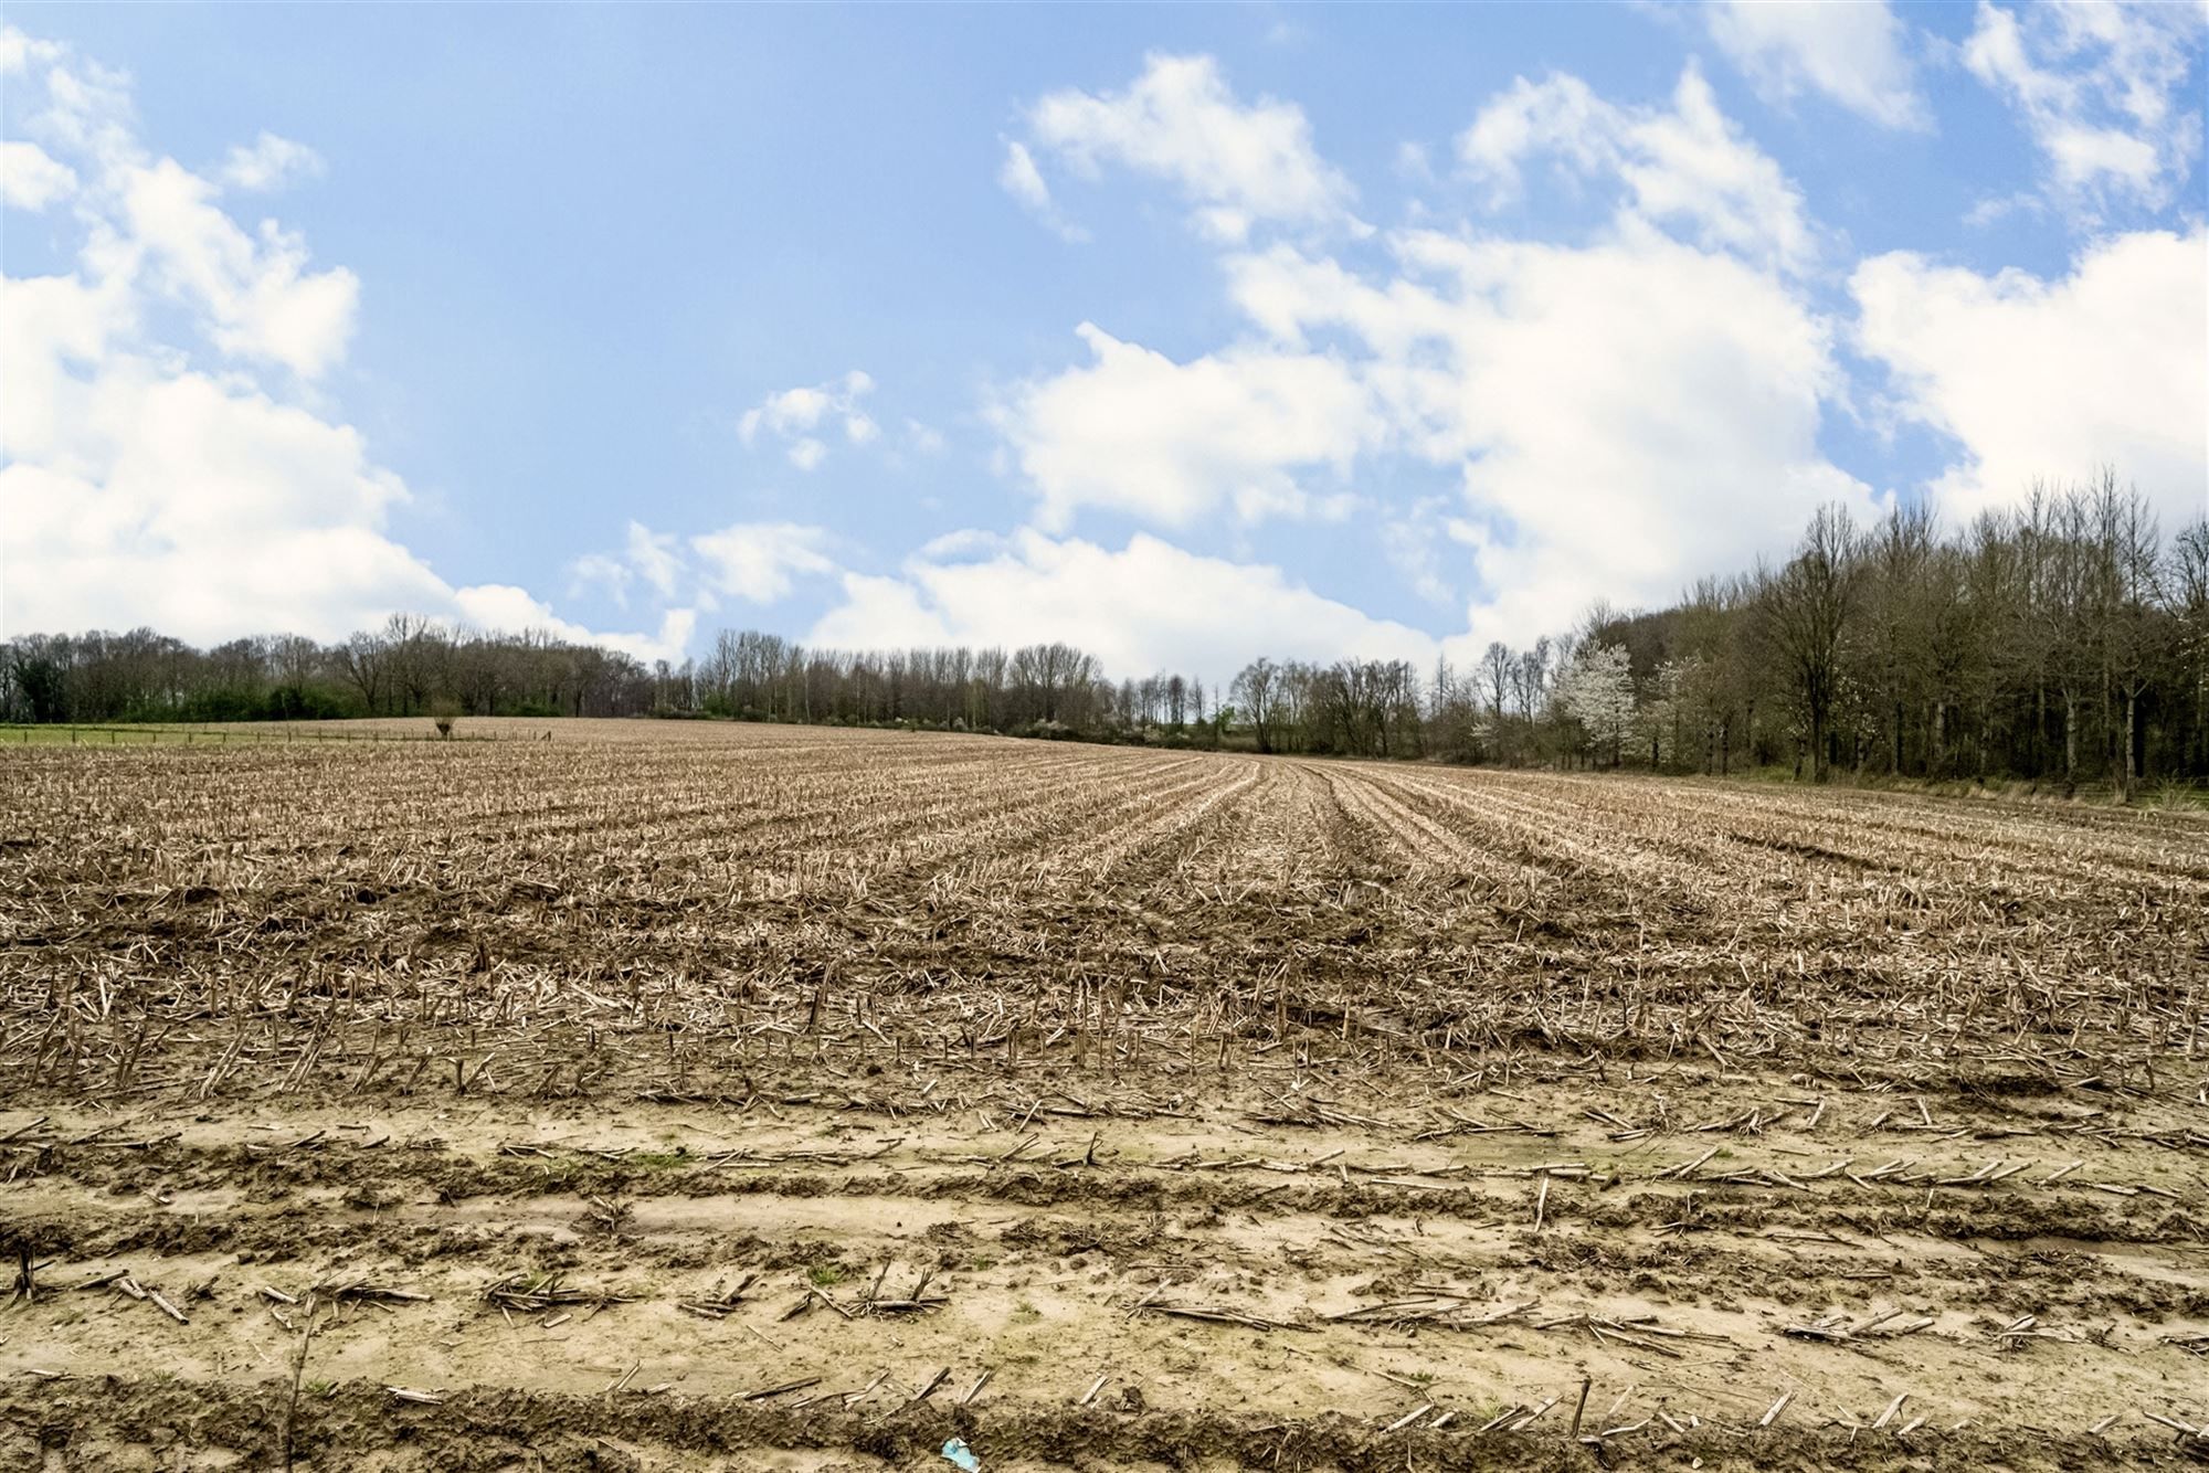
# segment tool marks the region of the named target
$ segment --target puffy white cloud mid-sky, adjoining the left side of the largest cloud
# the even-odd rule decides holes
[[[1314,468],[1343,477],[1383,428],[1341,362],[1264,347],[1173,362],[1089,322],[1076,331],[1087,367],[1021,384],[992,413],[1047,530],[1080,508],[1164,526],[1219,506],[1244,521],[1347,510],[1341,488],[1299,484]]]

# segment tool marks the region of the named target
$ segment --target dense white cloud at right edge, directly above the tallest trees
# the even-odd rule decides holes
[[[2209,234],[2101,241],[2070,276],[1979,276],[1898,252],[1851,278],[1858,345],[1893,373],[1895,411],[1962,444],[1935,484],[1968,519],[2034,479],[2103,464],[2171,530],[2209,508]]]

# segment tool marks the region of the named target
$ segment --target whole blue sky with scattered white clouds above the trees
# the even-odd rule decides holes
[[[46,7],[0,636],[1473,658],[2209,512],[2209,4]]]

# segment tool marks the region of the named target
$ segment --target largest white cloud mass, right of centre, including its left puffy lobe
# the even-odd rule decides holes
[[[1036,532],[1096,510],[1162,530],[1345,517],[1478,647],[1568,627],[1597,598],[1666,603],[1787,548],[1820,504],[1875,515],[1873,488],[1818,446],[1847,398],[1836,329],[1774,269],[1816,254],[1800,194],[1701,73],[1661,108],[1520,82],[1460,137],[1504,192],[1535,157],[1619,183],[1602,239],[1403,230],[1381,267],[1310,243],[1235,250],[1248,331],[1186,360],[1082,325],[1089,362],[992,413]],[[1431,495],[1436,473],[1454,497]],[[908,570],[855,587],[915,585]]]

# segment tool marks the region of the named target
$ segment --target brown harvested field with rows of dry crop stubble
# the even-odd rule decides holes
[[[2209,1455],[2200,817],[462,727],[0,749],[0,1469]]]

